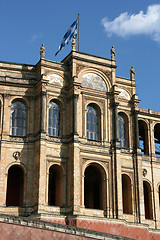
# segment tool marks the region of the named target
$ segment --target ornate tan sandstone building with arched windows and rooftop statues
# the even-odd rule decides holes
[[[117,77],[113,47],[106,59],[73,40],[60,63],[44,51],[0,62],[1,214],[160,229],[160,112],[139,108],[134,68]]]

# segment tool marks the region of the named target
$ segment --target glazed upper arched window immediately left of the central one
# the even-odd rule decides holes
[[[48,134],[58,137],[60,135],[60,108],[57,103],[49,103]]]

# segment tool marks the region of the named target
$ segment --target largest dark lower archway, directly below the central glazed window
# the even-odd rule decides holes
[[[91,164],[85,170],[84,205],[91,209],[104,209],[105,173],[97,164]]]

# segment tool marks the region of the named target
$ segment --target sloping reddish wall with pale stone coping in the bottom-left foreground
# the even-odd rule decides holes
[[[82,228],[0,215],[0,240],[133,240]]]

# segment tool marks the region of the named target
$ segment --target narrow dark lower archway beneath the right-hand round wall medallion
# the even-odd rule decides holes
[[[144,209],[145,209],[145,218],[153,219],[152,211],[152,192],[151,186],[147,181],[143,181],[143,193],[144,193]]]

